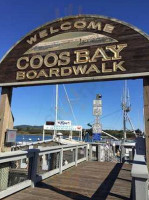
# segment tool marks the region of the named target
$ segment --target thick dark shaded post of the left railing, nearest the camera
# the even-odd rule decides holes
[[[33,151],[31,151],[33,152]],[[30,152],[29,152],[30,153]],[[28,174],[31,179],[31,187],[36,185],[37,165],[38,165],[38,149],[34,149],[33,156],[29,158]]]

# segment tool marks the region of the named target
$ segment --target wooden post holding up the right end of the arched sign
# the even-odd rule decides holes
[[[146,164],[149,170],[149,77],[143,78]]]

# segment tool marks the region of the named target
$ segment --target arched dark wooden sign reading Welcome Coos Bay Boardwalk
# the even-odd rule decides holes
[[[0,86],[149,75],[149,37],[102,16],[48,23],[19,41],[0,63]]]

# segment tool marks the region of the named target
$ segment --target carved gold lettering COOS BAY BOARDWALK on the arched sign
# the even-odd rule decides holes
[[[17,60],[16,80],[33,80],[50,77],[69,77],[91,73],[112,73],[126,71],[122,51],[127,44],[107,45],[74,51],[47,52],[46,55],[24,55]],[[110,55],[110,56],[109,56]],[[97,62],[100,61],[100,66]],[[107,62],[110,61],[110,68]]]

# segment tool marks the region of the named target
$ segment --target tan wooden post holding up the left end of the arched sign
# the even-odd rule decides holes
[[[0,152],[6,151],[4,147],[5,133],[13,128],[13,116],[11,113],[12,87],[2,87],[0,101]]]

